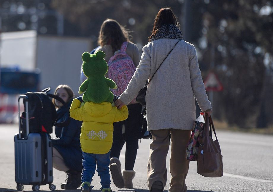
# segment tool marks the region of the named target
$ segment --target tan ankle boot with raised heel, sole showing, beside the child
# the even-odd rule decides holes
[[[124,180],[122,177],[120,166],[121,164],[118,158],[112,157],[110,159],[110,172],[112,175],[113,182],[118,188],[121,189],[124,187]]]

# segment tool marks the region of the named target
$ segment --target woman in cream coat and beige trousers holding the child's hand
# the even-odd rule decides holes
[[[147,129],[152,134],[147,167],[148,187],[151,192],[162,192],[166,185],[166,156],[169,134],[172,133],[169,192],[186,192],[185,179],[189,168],[186,145],[196,118],[194,98],[207,115],[210,116],[212,110],[196,50],[192,44],[182,40],[170,8],[162,8],[156,15],[149,43],[143,47],[136,72],[115,104],[119,108],[128,104],[146,80],[150,80],[166,55],[168,57],[148,84],[146,93]]]

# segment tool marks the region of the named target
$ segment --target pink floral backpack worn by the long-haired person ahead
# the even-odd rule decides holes
[[[108,77],[118,85],[117,89],[111,89],[114,95],[120,96],[127,88],[136,67],[132,58],[126,53],[128,42],[123,42],[117,51],[108,61]],[[130,104],[136,103],[136,98]]]

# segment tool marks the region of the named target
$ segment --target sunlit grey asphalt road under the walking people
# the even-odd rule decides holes
[[[217,131],[217,137],[223,155],[224,176],[207,178],[196,173],[196,161],[191,161],[186,184],[188,192],[267,192],[273,191],[273,136],[246,134],[231,131]],[[17,191],[14,170],[14,134],[17,124],[0,124],[0,192]],[[113,191],[149,192],[147,188],[146,167],[151,140],[142,139],[137,154],[136,176],[133,180],[135,189],[119,189],[111,184]],[[125,148],[125,147],[124,147]],[[120,161],[124,168],[123,149]],[[169,155],[169,154],[168,154]],[[169,159],[169,158],[168,158]],[[167,162],[169,167],[169,161]],[[60,184],[66,174],[53,169],[57,191],[64,191]],[[170,174],[168,174],[168,179]],[[93,192],[100,192],[99,176],[95,174]],[[24,191],[32,191],[31,185],[24,185]],[[164,190],[168,191],[169,182]],[[41,191],[50,191],[48,185],[41,186]],[[66,190],[80,192],[77,190]]]

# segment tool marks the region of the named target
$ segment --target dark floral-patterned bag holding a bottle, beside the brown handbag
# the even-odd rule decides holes
[[[204,123],[195,121],[191,138],[187,145],[187,159],[189,161],[197,161],[200,135],[204,129]]]

